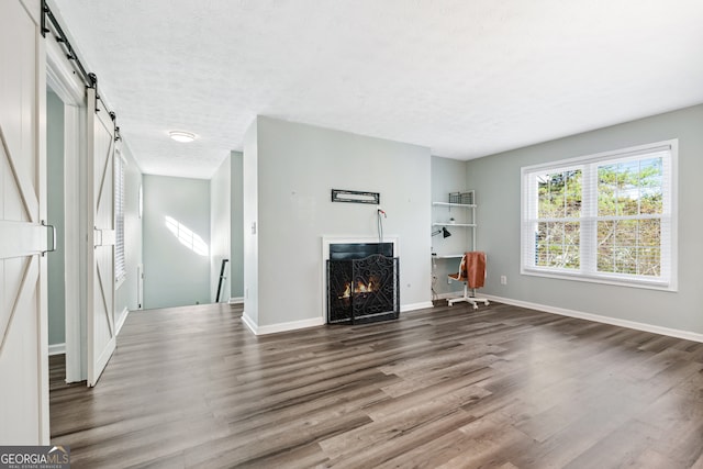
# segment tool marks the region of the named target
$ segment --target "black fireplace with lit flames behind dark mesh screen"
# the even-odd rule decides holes
[[[361,324],[398,319],[399,259],[393,243],[330,245],[327,323]]]

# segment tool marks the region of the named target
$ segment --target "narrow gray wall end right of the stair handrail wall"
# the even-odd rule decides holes
[[[232,254],[230,257],[231,298],[244,299],[244,155],[242,152],[232,152],[230,178],[231,191],[231,222],[230,244]]]

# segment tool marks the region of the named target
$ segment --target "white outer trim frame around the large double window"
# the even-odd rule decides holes
[[[668,208],[670,210],[669,214],[665,214],[665,216],[669,220],[670,231],[669,231],[669,278],[668,280],[647,280],[643,277],[633,278],[628,275],[623,273],[609,273],[609,272],[583,272],[583,271],[574,271],[572,269],[559,269],[554,267],[539,267],[534,265],[534,256],[531,256],[531,253],[534,255],[534,249],[531,250],[531,247],[527,246],[527,237],[529,234],[529,226],[533,221],[529,219],[529,209],[531,209],[531,197],[533,193],[531,192],[531,175],[534,175],[538,171],[559,171],[566,170],[569,168],[573,168],[579,165],[592,165],[598,164],[600,161],[606,161],[611,159],[623,159],[623,158],[636,158],[639,155],[647,155],[650,153],[655,153],[657,150],[668,150],[669,152],[669,172],[670,176],[668,178],[669,183],[669,204]],[[545,277],[545,278],[555,278],[555,279],[563,279],[563,280],[576,280],[576,281],[585,281],[593,283],[605,283],[621,287],[633,287],[633,288],[644,288],[644,289],[654,289],[654,290],[665,290],[665,291],[678,291],[678,155],[679,155],[679,141],[678,138],[667,139],[655,142],[645,145],[637,145],[615,150],[602,152],[591,155],[583,155],[568,159],[554,160],[537,165],[524,166],[521,168],[521,226],[520,226],[520,272],[525,276],[535,276],[535,277]],[[591,171],[592,172],[592,171]],[[585,177],[585,176],[584,176]],[[592,183],[593,181],[591,181]],[[595,190],[588,190],[584,181],[584,192],[593,192],[593,193],[584,193],[582,194],[582,199],[598,197]],[[593,220],[598,220],[593,214],[581,213],[581,219],[584,221],[592,222]],[[587,235],[588,236],[588,235]],[[581,237],[583,241],[583,236]],[[663,247],[663,243],[662,243]],[[533,260],[531,260],[531,257]],[[582,259],[583,260],[583,259]],[[587,259],[585,263],[589,260]],[[531,264],[532,263],[532,264]],[[662,266],[662,268],[665,268]]]

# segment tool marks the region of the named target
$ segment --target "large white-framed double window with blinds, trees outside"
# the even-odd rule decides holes
[[[677,145],[522,168],[522,273],[676,290]]]

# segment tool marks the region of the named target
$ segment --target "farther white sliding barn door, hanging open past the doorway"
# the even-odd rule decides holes
[[[88,88],[88,386],[96,386],[115,348],[114,122]],[[92,230],[91,230],[92,227]],[[92,246],[92,249],[91,249]]]

